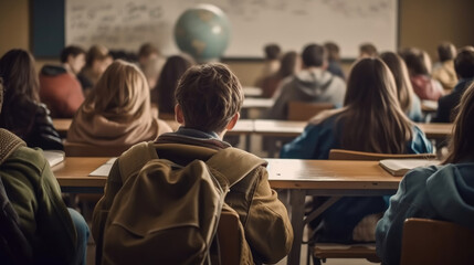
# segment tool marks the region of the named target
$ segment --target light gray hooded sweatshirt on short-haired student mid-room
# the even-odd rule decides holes
[[[323,68],[309,68],[285,78],[275,93],[275,104],[267,113],[271,119],[286,119],[289,102],[331,103],[341,107],[346,83]]]

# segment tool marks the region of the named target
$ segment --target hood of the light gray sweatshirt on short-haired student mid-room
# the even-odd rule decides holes
[[[322,68],[304,70],[295,75],[294,87],[309,97],[317,97],[325,94],[333,81],[334,75]]]

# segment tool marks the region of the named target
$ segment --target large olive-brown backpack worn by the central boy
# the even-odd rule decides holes
[[[118,161],[124,184],[105,224],[102,263],[210,264],[225,194],[265,161],[231,147],[186,166],[147,158],[146,145],[130,151],[146,162],[136,172]]]

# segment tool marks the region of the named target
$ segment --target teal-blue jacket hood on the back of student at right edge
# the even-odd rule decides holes
[[[474,227],[474,163],[447,165],[426,180],[428,197],[446,221]]]

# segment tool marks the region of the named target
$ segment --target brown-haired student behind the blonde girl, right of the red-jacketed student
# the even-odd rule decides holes
[[[84,94],[88,94],[97,84],[104,71],[112,64],[112,56],[108,49],[103,45],[92,46],[85,56],[85,66],[77,75]]]

